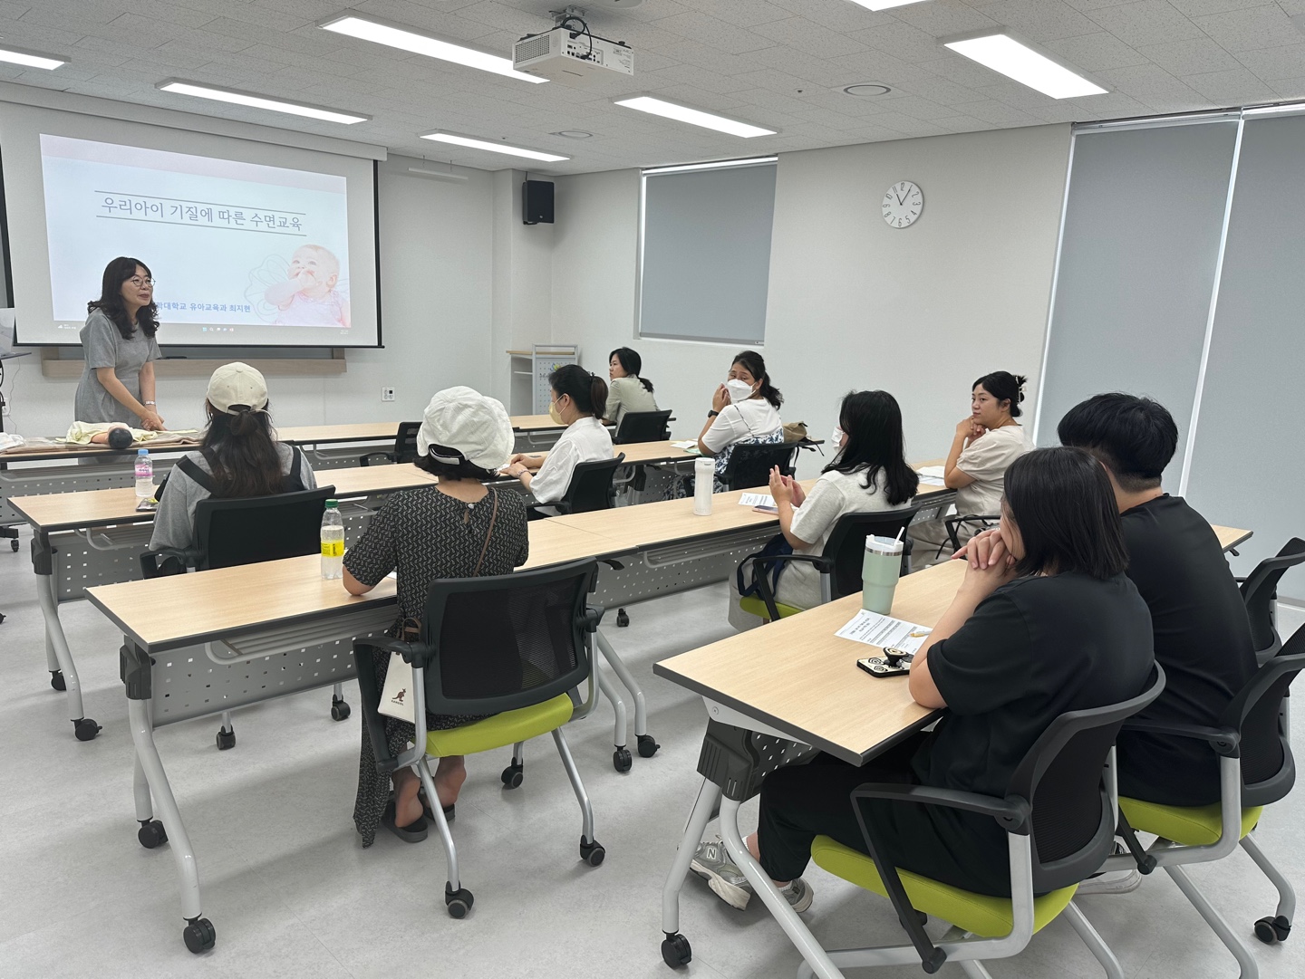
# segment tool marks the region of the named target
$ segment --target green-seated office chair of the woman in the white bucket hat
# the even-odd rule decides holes
[[[411,768],[422,780],[444,843],[444,902],[453,918],[471,910],[472,896],[462,886],[448,819],[433,804],[438,795],[428,757],[474,755],[512,744],[512,764],[501,778],[505,789],[515,789],[525,768],[523,743],[551,733],[583,815],[581,859],[596,867],[606,856],[594,838],[594,811],[561,730],[594,707],[591,644],[603,610],[587,607],[585,600],[596,575],[598,562],[590,559],[493,577],[436,580],[427,593],[418,641],[354,643],[363,723],[372,739],[376,768],[384,774]],[[380,690],[373,649],[398,652],[412,666],[415,747],[398,757],[389,751],[385,718],[376,709]],[[589,695],[577,713],[581,683],[589,684]],[[428,731],[427,710],[491,716],[462,727]]]

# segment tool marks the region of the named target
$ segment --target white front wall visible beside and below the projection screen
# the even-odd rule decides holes
[[[347,351],[343,375],[269,377],[277,424],[419,418],[441,387],[492,390],[493,368],[506,360],[492,353],[491,343],[495,175],[457,168],[467,180],[445,183],[410,175],[418,164],[402,156],[380,164],[384,349]],[[8,364],[5,430],[67,430],[77,381],[42,377],[35,352]],[[206,383],[159,379],[159,409],[170,426],[202,425]],[[381,402],[382,386],[395,388],[393,404]]]

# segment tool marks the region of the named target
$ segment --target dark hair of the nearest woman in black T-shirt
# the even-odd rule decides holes
[[[1086,450],[1057,446],[1026,452],[1006,469],[1006,510],[1019,528],[1021,575],[1078,571],[1113,577],[1129,564],[1114,490]]]

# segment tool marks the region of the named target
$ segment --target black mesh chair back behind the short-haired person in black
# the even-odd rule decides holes
[[[1224,708],[1220,727],[1241,734],[1241,804],[1267,806],[1291,791],[1296,782],[1292,746],[1280,721],[1283,699],[1305,669],[1305,626],[1287,640]]]

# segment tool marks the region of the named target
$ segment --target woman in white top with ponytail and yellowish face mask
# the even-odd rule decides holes
[[[578,364],[566,364],[548,375],[552,409],[566,426],[544,455],[517,452],[504,473],[521,480],[536,503],[556,503],[566,495],[572,471],[581,463],[612,458],[612,435],[596,417],[607,404],[607,382]],[[553,507],[531,511],[531,519],[556,514]]]

